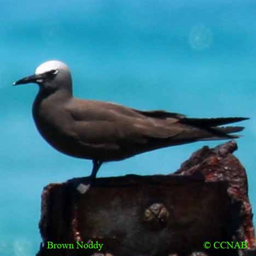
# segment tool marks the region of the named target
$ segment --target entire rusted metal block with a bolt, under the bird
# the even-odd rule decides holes
[[[235,149],[234,142],[203,147],[169,176],[98,178],[83,195],[75,188],[86,178],[48,185],[38,256],[254,255],[247,177]],[[48,241],[103,246],[49,249]],[[205,249],[206,241],[246,241],[251,251]]]

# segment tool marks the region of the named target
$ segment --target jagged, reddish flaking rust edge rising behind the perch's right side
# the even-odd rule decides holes
[[[232,223],[238,225],[237,241],[247,241],[248,248],[255,248],[252,222],[252,206],[248,199],[248,184],[245,168],[232,154],[237,149],[235,141],[221,144],[214,149],[203,147],[185,161],[174,174],[191,176],[202,174],[206,182],[228,182],[228,194],[232,200]],[[239,220],[239,221],[238,221]]]

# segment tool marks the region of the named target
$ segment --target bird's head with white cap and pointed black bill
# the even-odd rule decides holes
[[[41,90],[56,91],[65,89],[72,91],[71,72],[68,66],[56,60],[46,61],[36,68],[33,75],[22,78],[13,85],[36,83]]]

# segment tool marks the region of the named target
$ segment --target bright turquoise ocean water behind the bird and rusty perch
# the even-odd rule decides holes
[[[45,185],[88,176],[91,161],[51,148],[34,125],[40,63],[71,68],[74,95],[189,117],[250,117],[235,155],[256,208],[256,2],[0,0],[0,255],[32,256]],[[104,164],[98,177],[176,171],[198,142]],[[254,219],[255,222],[255,219]]]

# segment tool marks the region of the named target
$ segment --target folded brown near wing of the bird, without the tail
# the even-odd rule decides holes
[[[78,99],[73,99],[66,109],[75,120],[74,132],[86,143],[145,144],[150,138],[170,138],[183,132],[182,126],[175,125],[183,115],[161,110],[144,112],[114,103]]]

